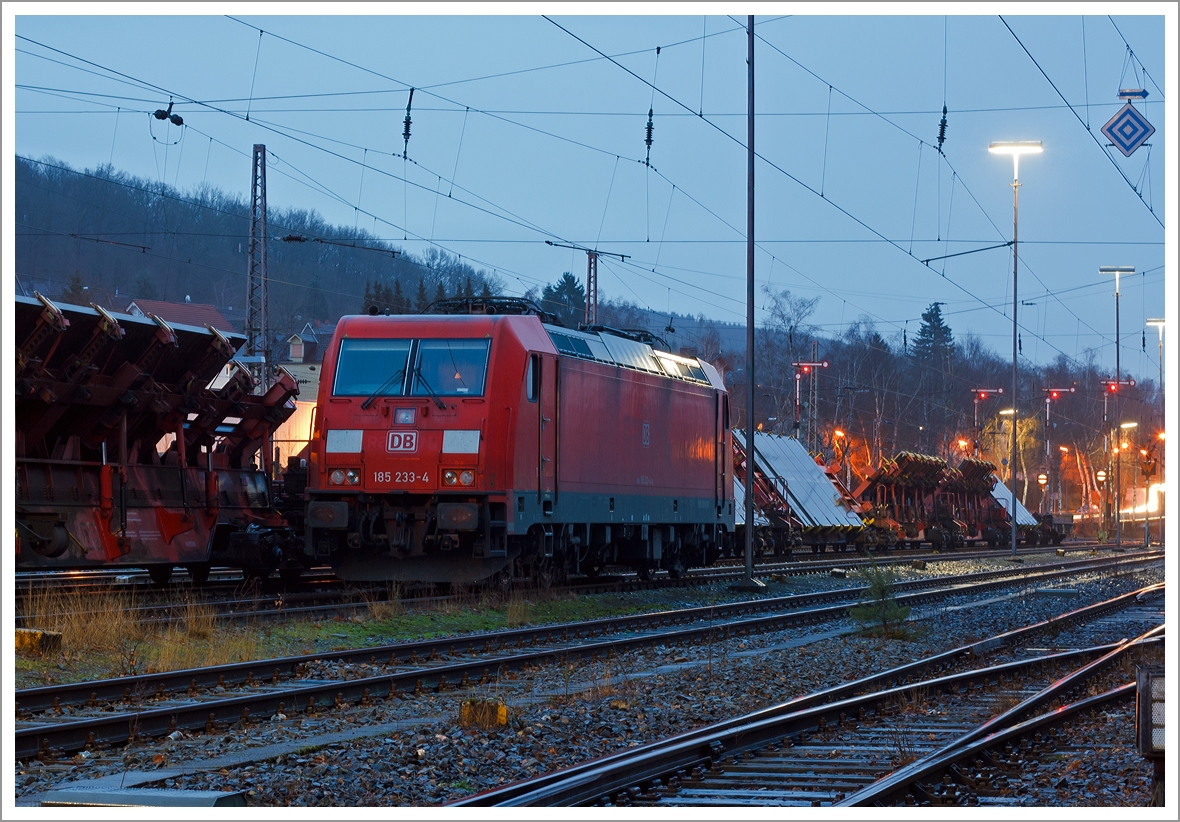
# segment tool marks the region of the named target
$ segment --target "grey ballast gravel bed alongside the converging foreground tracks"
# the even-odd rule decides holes
[[[994,563],[939,564],[938,572]],[[924,576],[905,571],[899,578]],[[817,587],[837,580],[811,578]],[[122,750],[18,763],[18,803],[65,782],[131,774],[137,787],[245,791],[260,807],[438,805],[622,748],[765,708],[1163,580],[1163,570],[1071,578],[1068,593],[983,594],[914,609],[913,640],[860,638],[848,622],[694,646],[656,646],[598,663],[546,666],[487,686],[379,701],[314,716],[276,715],[216,735],[177,734]],[[844,583],[844,580],[839,580]],[[798,580],[791,585],[801,590]],[[1064,584],[1062,585],[1064,588]],[[772,596],[787,591],[772,590]],[[972,599],[985,604],[972,605]],[[1110,642],[1123,637],[1110,637]],[[1068,631],[1057,638],[1068,646]],[[324,664],[322,677],[362,676]],[[509,724],[461,728],[465,699],[509,708]],[[1128,716],[1129,712],[1129,716]],[[1028,807],[1146,807],[1152,767],[1134,747],[1134,706],[1075,723],[1084,755],[1058,756],[1009,801]],[[164,777],[155,782],[155,771]],[[148,775],[144,775],[146,772]]]

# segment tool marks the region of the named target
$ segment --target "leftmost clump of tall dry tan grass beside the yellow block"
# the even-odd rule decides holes
[[[59,632],[63,652],[112,652],[144,638],[135,606],[133,591],[113,587],[98,594],[30,588],[20,616],[26,627]]]

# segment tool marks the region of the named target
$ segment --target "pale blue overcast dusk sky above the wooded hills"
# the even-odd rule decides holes
[[[726,17],[729,6],[704,7],[715,12],[707,17],[668,15],[663,5],[648,7],[651,17],[557,5],[503,17],[428,6],[284,17],[269,5],[138,15],[144,8],[72,17],[5,4],[15,68],[5,71],[6,162],[111,163],[248,198],[250,149],[263,143],[271,208],[315,210],[411,252],[433,244],[494,270],[510,292],[566,270],[584,276],[583,252],[546,239],[597,248],[627,255],[601,258],[602,296],[743,321],[747,39],[746,18]],[[759,289],[818,297],[812,321],[825,334],[867,316],[884,336],[911,340],[940,301],[956,335],[1009,356],[1010,249],[923,261],[1011,239],[1012,166],[988,144],[1042,140],[1044,153],[1021,164],[1023,355],[1044,363],[1093,350],[1113,371],[1114,284],[1099,267],[1134,265],[1121,283],[1122,364],[1153,376],[1155,330],[1146,354],[1141,331],[1165,311],[1163,267],[1174,278],[1175,262],[1163,228],[1175,203],[1165,173],[1166,150],[1175,162],[1165,101],[1175,7],[1011,9],[1022,13],[760,7]],[[1125,158],[1099,130],[1129,87],[1147,90],[1136,106],[1156,131]],[[170,98],[184,126],[150,117]]]

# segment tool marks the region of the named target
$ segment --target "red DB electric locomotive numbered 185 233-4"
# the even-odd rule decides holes
[[[308,560],[350,580],[678,576],[732,538],[728,417],[708,363],[525,301],[343,317],[308,448]]]

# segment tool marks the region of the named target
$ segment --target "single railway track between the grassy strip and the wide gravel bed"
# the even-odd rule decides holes
[[[1035,573],[1014,568],[899,586],[903,604],[1035,586],[1063,577],[1158,563],[1160,552],[1062,560]],[[1014,576],[1015,574],[1015,576]],[[653,645],[695,644],[843,618],[859,588],[766,598],[549,625],[496,634],[448,637],[401,645],[255,660],[209,669],[123,677],[17,692],[18,757],[52,758],[85,747],[120,744],[137,736],[212,730],[276,712],[316,711],[348,703],[448,690],[569,659],[609,658]],[[614,636],[614,638],[607,638]],[[532,650],[535,646],[543,646]],[[504,653],[506,649],[516,652]],[[326,660],[347,665],[350,678],[314,678]]]

